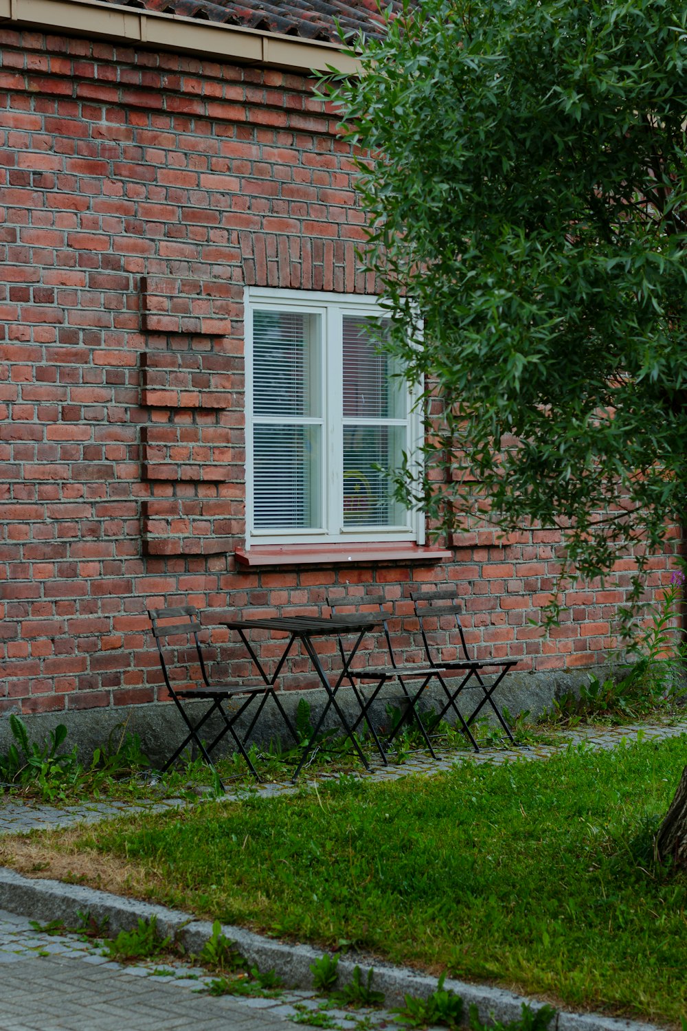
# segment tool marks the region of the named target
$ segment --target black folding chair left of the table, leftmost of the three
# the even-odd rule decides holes
[[[156,639],[156,644],[158,645],[158,652],[160,653],[160,662],[162,665],[163,676],[165,677],[165,685],[172,698],[174,704],[176,705],[181,719],[188,728],[188,733],[184,737],[181,744],[178,746],[174,755],[168,759],[168,761],[163,766],[163,771],[170,768],[173,762],[181,755],[183,750],[193,741],[205,759],[205,761],[214,769],[214,763],[210,759],[210,753],[219,744],[226,734],[230,734],[234,738],[236,747],[240,754],[245,759],[248,768],[255,779],[260,780],[257,770],[250,761],[250,756],[246,752],[245,743],[250,737],[253,728],[260,718],[265,703],[269,697],[274,699],[274,702],[279,709],[279,713],[288,729],[289,733],[294,737],[295,741],[298,741],[298,735],[294,729],[290,720],[284,711],[283,705],[279,701],[275,690],[270,685],[259,684],[246,687],[242,684],[236,685],[213,685],[209,681],[207,675],[207,667],[205,660],[203,658],[203,651],[201,648],[201,643],[198,638],[198,634],[203,629],[200,623],[198,609],[193,605],[177,605],[174,608],[151,608],[148,609],[148,616],[150,618],[150,623],[152,624],[152,635]],[[173,620],[173,623],[167,621]],[[169,638],[177,638],[178,641],[172,644]],[[181,638],[184,638],[181,641]],[[202,678],[202,684],[200,687],[195,688],[184,688],[181,691],[176,690],[172,686],[172,680],[170,678],[167,662],[165,661],[165,652],[163,650],[162,641],[167,641],[167,646],[170,652],[174,651],[179,656],[179,652],[183,650],[191,648],[191,662],[183,662],[183,665],[198,665],[200,669],[200,675]],[[193,643],[192,643],[193,642]],[[194,647],[195,644],[195,656]],[[186,655],[184,659],[187,659]],[[187,677],[186,677],[187,681]],[[250,726],[246,730],[245,734],[240,736],[236,729],[235,724],[240,719],[241,716],[248,708],[250,703],[260,697],[260,704],[253,716]],[[239,699],[240,704],[237,709],[230,711],[226,707],[226,703],[232,699]],[[194,721],[191,718],[190,712],[182,704],[182,701],[191,700],[205,700],[209,702],[209,708],[200,717],[200,719]],[[243,700],[242,700],[243,699]],[[213,714],[221,721],[221,727],[219,732],[213,738],[213,740],[206,745],[201,739],[200,731],[205,726],[205,724],[210,720]],[[216,772],[216,770],[215,770]],[[224,791],[224,785],[219,780],[219,785]]]

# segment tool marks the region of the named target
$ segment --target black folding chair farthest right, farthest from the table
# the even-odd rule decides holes
[[[437,718],[438,721],[443,720],[449,708],[453,708],[454,712],[456,712],[459,717],[460,723],[463,725],[463,729],[466,726],[470,728],[471,724],[475,722],[483,707],[488,704],[499,723],[505,730],[508,739],[512,744],[515,744],[511,729],[495,705],[492,696],[503,678],[506,676],[506,673],[508,673],[513,666],[517,665],[518,660],[479,660],[471,656],[468,642],[466,640],[466,634],[462,629],[462,606],[457,599],[457,592],[455,588],[440,588],[439,590],[432,592],[411,591],[411,598],[415,604],[415,614],[417,616],[419,623],[422,644],[427,661],[436,666],[441,666],[442,670],[456,672],[461,676],[458,686],[452,689],[446,684],[443,673],[437,677],[447,697],[447,702]],[[451,651],[456,652],[456,658],[447,659],[446,656],[442,654],[443,650],[441,644],[435,644],[433,647],[430,642],[428,634],[432,633],[433,630],[428,625],[436,623],[435,630],[439,632],[442,630],[442,620],[446,623],[443,631],[444,640],[446,639],[446,633],[454,635],[457,630],[459,646],[456,647],[454,644],[448,645]],[[462,653],[462,658],[460,658],[460,653]],[[495,679],[491,684],[486,684],[482,677],[482,673],[488,670],[494,670]],[[456,701],[463,688],[468,687],[468,685],[472,686],[473,681],[477,681],[477,685],[482,689],[482,698],[473,712],[467,720],[465,720],[458,710]]]

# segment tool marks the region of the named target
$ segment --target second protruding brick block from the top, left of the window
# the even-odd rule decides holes
[[[141,355],[141,404],[159,408],[231,408],[242,388],[229,355],[148,351]]]

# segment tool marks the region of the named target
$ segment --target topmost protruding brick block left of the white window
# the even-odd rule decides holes
[[[232,288],[183,276],[141,276],[141,322],[149,333],[230,336]]]

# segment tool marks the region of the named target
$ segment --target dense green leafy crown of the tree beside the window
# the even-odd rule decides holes
[[[561,576],[633,550],[630,600],[685,521],[686,25],[675,0],[422,0],[323,88],[388,345],[427,384],[397,491],[445,531],[558,528]]]

